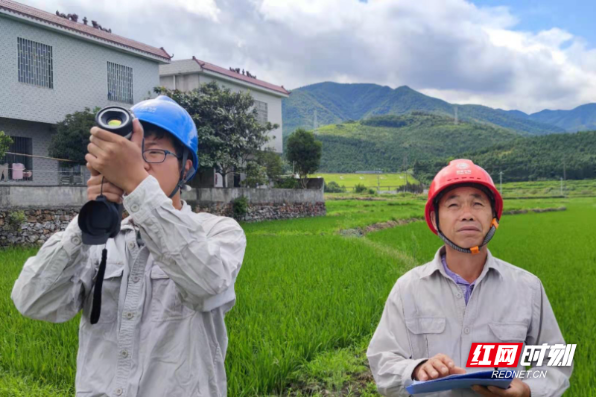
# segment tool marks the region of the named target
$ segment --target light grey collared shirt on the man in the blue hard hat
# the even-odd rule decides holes
[[[182,205],[153,176],[124,197],[130,216],[107,243],[97,324],[90,314],[104,247],[82,244],[78,217],[25,263],[12,291],[23,315],[59,323],[83,310],[77,396],[226,395],[224,315],[246,236],[231,218]]]

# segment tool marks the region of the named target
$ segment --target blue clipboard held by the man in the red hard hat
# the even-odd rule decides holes
[[[503,376],[502,378],[493,377],[493,372],[494,370],[479,371],[463,375],[449,375],[427,381],[415,380],[406,387],[406,391],[410,394],[434,393],[452,389],[470,389],[473,385],[496,386],[507,389],[513,380],[513,371],[500,370],[499,376]]]

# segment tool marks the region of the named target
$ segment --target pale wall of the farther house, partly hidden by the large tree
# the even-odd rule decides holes
[[[194,61],[193,61],[194,62]],[[170,68],[171,65],[168,65]],[[163,67],[162,67],[163,70]],[[176,85],[174,86],[174,79]],[[182,74],[174,76],[161,76],[160,77],[160,85],[164,86],[168,89],[177,88],[181,91],[191,91],[195,88],[198,88],[200,84],[206,84],[211,81],[216,81],[220,86],[225,88],[229,88],[234,92],[240,91],[247,91],[249,90],[246,86],[240,84],[234,84],[231,81],[223,80],[223,79],[215,79],[211,76],[206,76],[203,73],[193,73],[193,74]],[[281,101],[282,98],[268,94],[266,92],[251,89],[249,90],[253,98],[257,101],[262,101],[267,103],[267,117],[268,121],[272,124],[279,125],[279,128],[271,131],[269,133],[269,137],[271,138],[269,142],[267,142],[266,147],[271,147],[275,152],[282,153],[283,152],[283,138],[282,138],[282,117],[281,117]]]

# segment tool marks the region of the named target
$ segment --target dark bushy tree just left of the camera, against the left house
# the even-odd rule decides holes
[[[85,154],[89,145],[89,130],[95,125],[95,115],[99,110],[98,107],[93,110],[85,108],[82,112],[67,114],[64,120],[58,122],[48,149],[50,156],[72,160],[80,165],[87,164]]]

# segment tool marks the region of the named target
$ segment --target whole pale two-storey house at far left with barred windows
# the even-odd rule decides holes
[[[67,114],[130,107],[159,85],[159,65],[170,62],[163,48],[82,20],[0,0],[0,131],[14,141],[10,152],[48,156],[50,126]],[[0,168],[11,168],[9,183],[68,183],[58,161],[24,155],[0,158]]]

